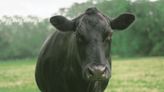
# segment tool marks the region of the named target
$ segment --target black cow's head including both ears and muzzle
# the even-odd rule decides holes
[[[85,13],[73,20],[54,16],[50,22],[60,31],[76,33],[83,77],[87,80],[106,80],[111,76],[112,29],[123,30],[134,19],[134,15],[129,13],[109,19],[96,8],[88,8]]]

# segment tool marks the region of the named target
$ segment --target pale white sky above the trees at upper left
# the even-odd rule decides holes
[[[0,0],[0,17],[33,15],[45,18],[52,16],[59,8],[85,1],[87,0]]]

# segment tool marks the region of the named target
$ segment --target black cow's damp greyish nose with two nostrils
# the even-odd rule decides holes
[[[104,80],[109,77],[108,68],[105,65],[91,65],[86,71],[87,79]]]

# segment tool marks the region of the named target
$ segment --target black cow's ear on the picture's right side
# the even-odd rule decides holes
[[[124,13],[111,21],[111,28],[116,30],[123,30],[127,28],[133,21],[135,16],[130,13]]]

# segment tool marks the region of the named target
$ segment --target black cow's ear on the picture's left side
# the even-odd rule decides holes
[[[75,23],[64,16],[53,16],[50,18],[50,23],[60,31],[73,31],[75,29]]]

